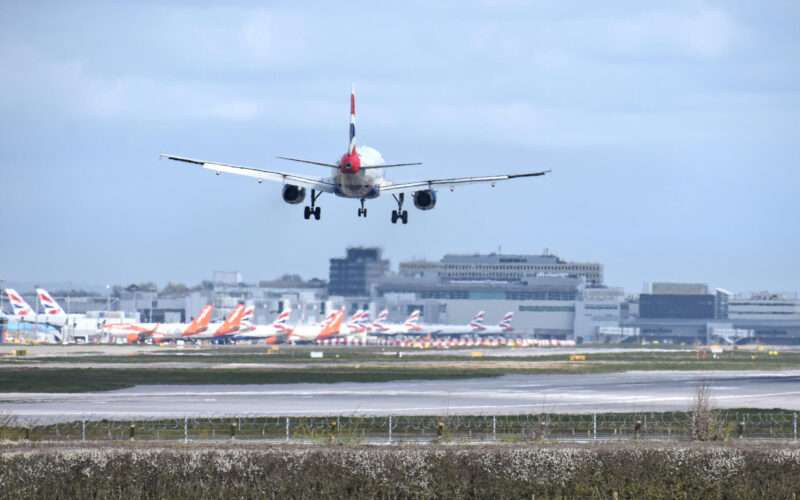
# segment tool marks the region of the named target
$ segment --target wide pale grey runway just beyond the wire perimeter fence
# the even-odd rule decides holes
[[[81,394],[0,393],[22,420],[114,416],[431,415],[685,411],[699,381],[718,408],[800,410],[800,370],[647,371],[381,383],[137,386]]]

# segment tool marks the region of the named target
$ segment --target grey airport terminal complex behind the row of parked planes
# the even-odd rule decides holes
[[[147,285],[147,284],[145,284]],[[137,288],[138,287],[138,288]],[[496,325],[514,313],[510,335],[577,342],[800,343],[796,294],[735,295],[704,283],[653,283],[650,293],[625,296],[604,284],[600,263],[570,262],[548,251],[525,254],[447,254],[440,261],[408,261],[392,273],[376,247],[350,247],[330,259],[329,280],[286,274],[246,283],[241,273],[216,271],[191,288],[168,285],[110,287],[107,295],[54,294],[72,313],[149,323],[189,322],[214,305],[220,321],[240,303],[255,306],[256,324],[285,309],[292,323],[318,322],[331,310],[348,314],[384,308],[399,323],[419,309],[422,323],[466,325],[479,311]],[[31,304],[35,294],[23,294]],[[38,306],[38,303],[36,304]]]

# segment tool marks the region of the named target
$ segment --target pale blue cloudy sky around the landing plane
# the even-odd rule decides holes
[[[0,279],[327,278],[349,245],[605,264],[609,285],[800,290],[800,4],[0,3]],[[377,5],[377,6],[376,6]],[[552,169],[389,199],[323,195],[159,153],[305,175],[361,144],[417,180]],[[322,169],[322,170],[320,170]]]

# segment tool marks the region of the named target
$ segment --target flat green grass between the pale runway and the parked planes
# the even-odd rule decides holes
[[[545,356],[420,355],[402,351],[403,357],[387,356],[380,348],[323,348],[325,357],[311,359],[307,348],[286,348],[266,354],[248,349],[206,349],[182,354],[153,352],[136,356],[53,356],[5,358],[0,362],[2,392],[89,392],[149,384],[286,384],[334,382],[386,382],[492,377],[505,374],[610,373],[630,370],[787,370],[800,368],[800,352],[727,351],[719,359],[695,359],[694,351],[659,350],[586,353],[585,361],[569,361],[568,354]],[[396,349],[386,351],[395,352]],[[521,351],[523,351],[521,349]],[[416,355],[415,355],[416,353]],[[465,351],[468,354],[469,351]],[[338,356],[338,357],[337,357]],[[409,363],[411,361],[411,363]],[[48,363],[99,364],[97,368],[48,368]],[[139,363],[201,362],[209,364],[256,363],[263,367],[190,366],[137,367]],[[15,366],[35,363],[36,367]],[[121,363],[124,368],[104,368],[102,363]],[[270,368],[267,363],[297,366]],[[302,363],[302,364],[301,364]],[[364,363],[364,364],[361,364]],[[457,366],[453,366],[456,363]]]

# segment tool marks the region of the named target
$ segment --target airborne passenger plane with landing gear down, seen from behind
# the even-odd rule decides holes
[[[420,210],[430,210],[436,206],[436,188],[442,186],[449,186],[451,191],[455,189],[456,185],[462,184],[491,183],[491,185],[494,186],[498,181],[521,177],[536,177],[549,172],[549,170],[545,170],[521,174],[456,177],[453,179],[433,179],[415,182],[395,182],[393,180],[388,180],[384,177],[383,169],[420,165],[420,163],[387,164],[377,150],[368,146],[357,147],[355,99],[355,86],[353,86],[350,92],[350,143],[347,152],[342,155],[337,163],[301,160],[299,158],[288,158],[285,156],[278,157],[283,160],[330,167],[333,169],[330,177],[305,177],[287,172],[193,160],[181,156],[167,154],[162,154],[161,156],[170,160],[200,165],[203,168],[215,171],[217,175],[225,172],[254,177],[258,179],[259,184],[265,180],[280,182],[283,184],[283,200],[292,205],[302,203],[306,199],[306,190],[311,190],[310,196],[308,197],[310,204],[306,205],[304,212],[306,219],[310,219],[313,216],[314,219],[319,220],[322,210],[317,205],[317,199],[322,193],[332,193],[343,198],[361,200],[361,208],[358,209],[359,217],[367,216],[367,208],[364,206],[366,200],[371,200],[381,195],[392,195],[397,202],[397,209],[392,210],[393,224],[396,224],[398,220],[402,221],[403,224],[408,223],[408,211],[403,209],[403,202],[405,201],[406,194],[411,195],[415,207]]]

